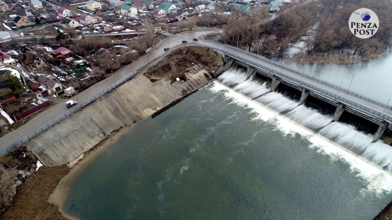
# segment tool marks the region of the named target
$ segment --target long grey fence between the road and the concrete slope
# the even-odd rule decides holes
[[[56,123],[60,122],[61,120],[64,120],[65,118],[70,116],[72,113],[76,112],[77,110],[80,110],[80,109],[84,108],[85,106],[87,106],[88,104],[92,103],[94,100],[98,99],[100,96],[104,95],[105,93],[107,93],[108,91],[112,90],[113,88],[117,88],[118,86],[123,84],[123,82],[125,82],[126,80],[128,80],[132,76],[134,76],[136,73],[138,73],[138,70],[139,69],[134,70],[133,72],[131,72],[128,75],[124,76],[122,79],[120,79],[119,81],[115,82],[111,86],[103,89],[102,91],[98,92],[96,95],[90,97],[85,102],[76,105],[71,110],[66,111],[64,114],[60,115],[59,117],[56,117],[56,118],[50,120],[48,123],[46,123],[41,128],[38,128],[35,131],[28,133],[27,135],[23,136],[20,140],[16,141],[15,143],[11,144],[10,146],[6,147],[5,149],[0,150],[0,156],[7,154],[9,151],[12,151],[15,148],[21,146],[23,143],[27,142],[31,138],[33,138],[33,137],[37,136],[38,134],[48,130],[51,126],[55,125]]]

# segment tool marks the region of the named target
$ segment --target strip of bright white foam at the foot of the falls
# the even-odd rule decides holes
[[[332,142],[326,137],[305,128],[304,126],[296,123],[294,120],[270,109],[268,106],[251,100],[249,97],[233,89],[227,88],[220,82],[215,82],[210,89],[213,92],[223,92],[226,98],[231,99],[233,103],[243,106],[244,108],[249,108],[253,112],[257,113],[255,120],[263,120],[273,123],[277,129],[284,134],[298,133],[312,143],[309,146],[310,148],[317,148],[319,149],[318,152],[329,155],[335,159],[340,159],[349,164],[350,169],[358,172],[358,176],[362,177],[367,182],[367,188],[361,190],[362,193],[375,192],[377,194],[381,194],[383,192],[392,192],[391,173],[383,170],[380,166],[374,164],[368,159],[357,155],[345,149],[338,143]],[[313,113],[315,113],[315,111],[313,111]],[[326,120],[323,121],[325,122]],[[350,129],[352,130],[352,128]]]

